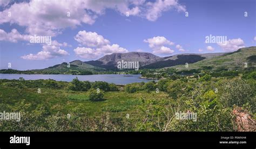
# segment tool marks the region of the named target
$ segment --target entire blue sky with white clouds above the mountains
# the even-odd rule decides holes
[[[0,69],[111,53],[233,52],[255,46],[255,11],[254,0],[0,0]],[[51,42],[33,42],[41,37]]]

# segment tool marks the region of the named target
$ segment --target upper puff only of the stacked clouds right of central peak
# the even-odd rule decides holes
[[[144,42],[149,43],[149,47],[151,48],[158,48],[164,45],[174,45],[173,42],[167,40],[163,36],[157,36],[157,37],[145,39]]]

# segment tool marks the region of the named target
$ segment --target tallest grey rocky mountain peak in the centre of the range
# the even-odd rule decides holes
[[[106,69],[117,69],[118,61],[139,61],[140,67],[151,63],[164,60],[157,55],[147,52],[128,52],[128,53],[112,53],[105,55],[96,61],[87,61],[85,63]]]

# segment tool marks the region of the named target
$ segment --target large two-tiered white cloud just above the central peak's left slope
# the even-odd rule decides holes
[[[80,43],[80,46],[86,46],[74,49],[76,55],[84,59],[95,59],[106,54],[128,52],[127,49],[120,47],[118,44],[110,45],[109,40],[104,39],[96,32],[79,31],[75,40]]]

